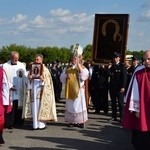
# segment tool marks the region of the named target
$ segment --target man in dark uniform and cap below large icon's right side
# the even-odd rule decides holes
[[[127,82],[127,71],[125,65],[120,62],[121,54],[113,54],[113,63],[110,67],[110,98],[112,106],[112,119],[117,121],[117,106],[119,107],[119,117],[122,120],[124,93]]]

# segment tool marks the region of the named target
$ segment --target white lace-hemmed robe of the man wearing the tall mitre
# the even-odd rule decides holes
[[[62,83],[66,81],[66,70],[60,76]],[[66,99],[65,121],[73,124],[84,123],[88,120],[84,81],[88,79],[89,71],[84,68],[79,73],[79,94],[75,100]]]

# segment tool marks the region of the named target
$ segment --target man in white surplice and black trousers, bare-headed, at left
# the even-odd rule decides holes
[[[10,100],[13,105],[12,113],[9,116],[6,116],[6,127],[12,128],[16,124],[20,124],[20,121],[17,119],[17,109],[18,109],[18,87],[16,87],[14,81],[19,80],[18,70],[22,70],[26,76],[26,66],[24,63],[19,61],[19,53],[16,51],[11,52],[10,60],[3,64],[3,69],[6,72],[8,78],[9,87],[10,87]],[[16,112],[16,113],[15,113]]]

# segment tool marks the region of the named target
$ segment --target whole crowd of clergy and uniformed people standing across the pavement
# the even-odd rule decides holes
[[[56,60],[45,66],[43,56],[37,54],[26,66],[19,61],[18,52],[11,52],[10,60],[0,67],[0,144],[4,143],[4,127],[13,129],[32,119],[32,129],[43,130],[47,122],[57,121],[56,102],[62,99],[65,84],[64,120],[68,127],[85,127],[89,105],[96,114],[103,111],[107,115],[110,96],[111,120],[133,129],[136,150],[150,147],[150,50],[143,58],[143,65],[136,57],[132,64],[124,64],[121,54],[115,52],[112,63],[103,65],[73,55],[69,65]]]

